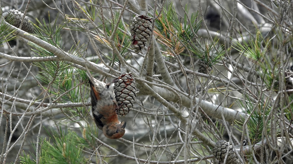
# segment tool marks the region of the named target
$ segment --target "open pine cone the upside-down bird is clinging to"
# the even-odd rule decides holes
[[[132,109],[136,97],[135,80],[131,74],[123,74],[113,80],[115,98],[119,109],[117,114],[119,117],[126,116]]]

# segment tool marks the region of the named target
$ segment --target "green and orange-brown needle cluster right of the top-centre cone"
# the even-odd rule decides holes
[[[188,13],[187,6],[185,11]],[[156,15],[158,14],[156,12]],[[201,20],[197,20],[197,17],[198,12],[192,13],[190,22],[188,22],[185,15],[182,23],[182,18],[178,18],[173,2],[165,4],[161,15],[155,20],[154,27],[155,36],[163,42],[163,44],[159,42],[161,46],[166,48],[164,55],[170,57],[177,54],[186,55],[184,50],[189,48],[189,44],[194,38],[193,31],[196,33],[200,28]]]

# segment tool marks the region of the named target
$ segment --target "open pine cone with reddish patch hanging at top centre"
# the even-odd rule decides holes
[[[136,15],[130,26],[132,47],[136,53],[142,52],[152,31],[152,18],[146,15]]]

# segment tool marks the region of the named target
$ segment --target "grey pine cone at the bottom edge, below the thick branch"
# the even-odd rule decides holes
[[[220,140],[216,143],[214,148],[212,149],[214,157],[219,160],[220,162],[224,162],[225,156],[227,151],[229,151],[229,154],[227,156],[226,163],[229,164],[242,164],[239,162],[236,158],[236,154],[234,153],[234,150],[231,145],[229,145],[229,142],[225,140]]]

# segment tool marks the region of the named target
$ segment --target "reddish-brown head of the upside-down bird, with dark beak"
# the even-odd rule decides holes
[[[120,124],[118,123],[110,123],[108,125],[104,125],[103,133],[107,138],[117,139],[121,138],[125,133],[126,122],[122,121]]]

